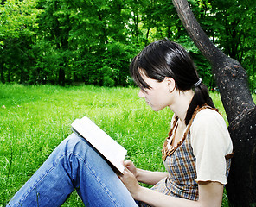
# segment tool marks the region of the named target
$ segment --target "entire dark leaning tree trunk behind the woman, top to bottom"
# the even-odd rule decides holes
[[[234,206],[256,206],[256,109],[247,76],[237,60],[227,57],[208,39],[187,0],[172,0],[196,47],[212,66],[234,142],[227,194]]]

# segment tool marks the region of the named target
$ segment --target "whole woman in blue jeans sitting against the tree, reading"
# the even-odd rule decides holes
[[[7,206],[61,206],[74,189],[86,206],[221,206],[232,142],[189,54],[174,42],[156,41],[130,69],[139,97],[152,110],[169,107],[175,113],[162,151],[167,172],[138,169],[126,160],[118,177],[90,144],[72,134]]]

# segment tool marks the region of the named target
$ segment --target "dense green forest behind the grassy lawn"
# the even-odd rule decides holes
[[[189,4],[210,40],[246,69],[254,92],[256,6],[246,0]],[[215,88],[171,1],[2,0],[0,18],[2,83],[131,85],[131,59],[151,41],[169,38],[189,51],[203,82]]]

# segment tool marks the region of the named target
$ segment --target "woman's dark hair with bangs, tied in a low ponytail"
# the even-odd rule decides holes
[[[195,95],[185,118],[187,125],[197,106],[208,104],[215,108],[213,100],[209,97],[208,88],[200,81],[189,53],[175,42],[165,39],[150,43],[131,61],[130,72],[131,77],[142,90],[150,89],[150,85],[144,81],[141,72],[159,82],[165,77],[174,78],[176,89],[180,91],[194,89]]]

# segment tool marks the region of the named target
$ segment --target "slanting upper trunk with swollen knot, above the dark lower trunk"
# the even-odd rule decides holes
[[[220,88],[221,100],[232,122],[244,110],[252,109],[255,104],[247,86],[246,72],[237,60],[233,60],[214,46],[195,19],[187,0],[172,0],[183,26],[196,47],[209,61]]]

